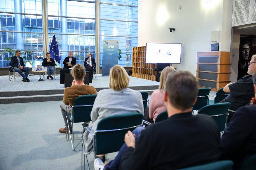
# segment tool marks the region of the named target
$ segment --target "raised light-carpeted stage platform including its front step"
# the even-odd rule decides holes
[[[27,103],[27,102],[43,102],[43,101],[60,101],[63,99],[64,84],[60,84],[60,76],[56,76],[56,80],[46,79],[45,81],[36,81],[39,75],[29,75],[30,82],[22,82],[21,78],[14,78],[9,81],[9,76],[0,76],[0,104],[8,103]],[[43,76],[41,75],[41,78]],[[138,91],[147,91],[149,95],[158,89],[159,82],[136,78],[129,76],[129,88]],[[109,88],[109,77],[97,74],[97,78],[93,77],[92,83],[98,91]]]

